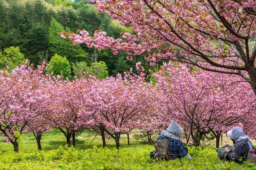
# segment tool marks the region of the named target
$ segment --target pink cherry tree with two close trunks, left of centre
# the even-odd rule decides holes
[[[76,132],[83,129],[86,125],[86,115],[80,116],[84,101],[84,93],[86,93],[86,79],[74,79],[69,81],[66,79],[56,79],[52,95],[54,99],[50,104],[52,113],[46,118],[52,121],[52,127],[59,129],[65,136],[68,146],[75,146]]]

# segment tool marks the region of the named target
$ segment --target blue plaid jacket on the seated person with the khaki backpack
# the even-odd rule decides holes
[[[160,134],[160,136],[158,136],[156,140],[164,140],[165,138],[166,136],[164,136],[163,134]],[[173,159],[180,158],[188,154],[188,151],[186,150],[181,140],[168,138],[168,145],[169,145],[170,155]]]

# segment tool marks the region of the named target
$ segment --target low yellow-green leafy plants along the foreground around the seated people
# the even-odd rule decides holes
[[[220,161],[215,148],[188,147],[191,161],[186,158],[153,162],[149,152],[154,146],[140,144],[128,148],[88,148],[79,150],[60,146],[49,151],[32,153],[3,153],[0,157],[1,169],[256,169],[253,164],[245,162]]]

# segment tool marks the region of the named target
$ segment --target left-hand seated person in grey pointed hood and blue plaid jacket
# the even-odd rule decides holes
[[[156,140],[164,140],[166,137],[168,138],[168,145],[172,159],[186,156],[188,160],[191,160],[191,156],[188,155],[188,148],[186,148],[180,140],[182,132],[183,129],[180,125],[178,125],[176,121],[171,121],[168,128],[162,131],[162,134],[160,134]]]

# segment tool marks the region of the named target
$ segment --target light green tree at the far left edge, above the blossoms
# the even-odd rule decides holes
[[[24,54],[20,52],[19,47],[12,46],[4,49],[4,51],[0,53],[0,69],[5,69],[6,65],[8,65],[8,71],[11,71],[17,65],[22,65],[24,61]]]

